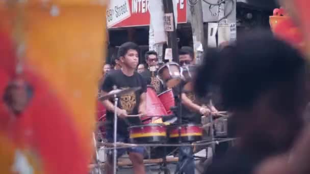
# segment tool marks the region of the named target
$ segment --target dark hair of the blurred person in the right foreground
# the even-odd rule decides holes
[[[292,94],[283,95],[286,100],[294,99],[302,91],[298,89],[302,85],[298,84],[305,80],[305,66],[298,50],[272,33],[256,32],[222,50],[206,50],[195,90],[205,95],[208,85],[218,85],[227,109],[251,108],[260,95],[275,89]],[[287,105],[290,101],[286,100],[280,100],[275,107]]]

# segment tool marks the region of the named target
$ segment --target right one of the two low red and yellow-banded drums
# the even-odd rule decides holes
[[[182,142],[194,142],[202,139],[201,125],[186,124],[186,125],[171,125],[168,126],[168,137],[170,142],[178,142],[179,128]]]

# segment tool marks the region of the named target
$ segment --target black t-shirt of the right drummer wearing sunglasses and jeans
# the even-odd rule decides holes
[[[185,85],[185,82],[181,82],[179,85],[175,86],[173,90],[173,95],[178,96],[180,87],[183,89],[183,86]],[[197,104],[197,98],[194,92],[182,90],[182,93],[187,96],[193,103]],[[177,101],[176,101],[177,102]],[[201,115],[197,112],[194,112],[187,108],[184,104],[182,104],[182,123],[188,124],[201,124]]]

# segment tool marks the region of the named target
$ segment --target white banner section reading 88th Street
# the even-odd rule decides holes
[[[128,0],[110,1],[107,8],[107,25],[113,26],[131,16]]]

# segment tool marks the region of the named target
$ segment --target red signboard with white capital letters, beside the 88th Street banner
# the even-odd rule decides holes
[[[177,1],[177,23],[186,23],[187,22],[187,13],[186,13],[187,0],[174,0],[174,1]],[[130,12],[131,12],[130,17],[127,17],[123,19],[122,21],[109,27],[118,28],[118,27],[149,25],[150,14],[148,10],[148,0],[127,0],[127,2],[130,7]],[[113,7],[111,8],[113,9]],[[107,11],[107,16],[109,16],[108,11]]]

